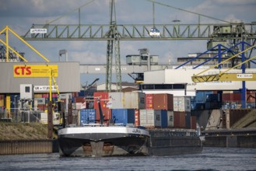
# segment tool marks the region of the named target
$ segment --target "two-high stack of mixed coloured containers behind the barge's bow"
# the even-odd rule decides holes
[[[143,92],[94,92],[100,99],[104,123],[134,124],[146,128],[196,128],[191,117],[191,98],[168,93],[145,94]],[[93,110],[81,110],[80,124],[99,123],[100,111],[97,100]],[[90,119],[89,119],[90,118]]]

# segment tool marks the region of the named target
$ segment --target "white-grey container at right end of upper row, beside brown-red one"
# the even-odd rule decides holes
[[[191,97],[174,96],[174,111],[190,112],[191,111]]]

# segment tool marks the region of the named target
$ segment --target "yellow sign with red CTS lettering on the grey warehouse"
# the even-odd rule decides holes
[[[58,77],[58,65],[13,65],[14,77]]]

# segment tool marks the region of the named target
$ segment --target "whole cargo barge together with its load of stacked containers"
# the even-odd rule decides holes
[[[111,92],[110,96],[111,106],[116,107],[111,109],[111,117],[101,107],[106,103],[100,104],[108,98],[100,96],[103,99],[100,100],[95,96],[94,107],[99,112],[98,117],[95,110],[87,110],[87,113],[81,110],[79,125],[68,125],[58,131],[61,156],[158,156],[202,152],[202,143],[195,129],[185,128],[185,117],[191,117],[189,113],[171,111],[174,108],[172,95],[154,95],[160,102],[160,105],[155,103],[153,106],[157,110],[143,110],[143,93]],[[134,100],[124,103],[125,96]],[[95,122],[97,118],[98,124]]]

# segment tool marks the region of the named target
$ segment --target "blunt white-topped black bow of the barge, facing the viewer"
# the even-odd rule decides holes
[[[149,155],[149,131],[139,127],[88,124],[58,131],[61,156]]]

